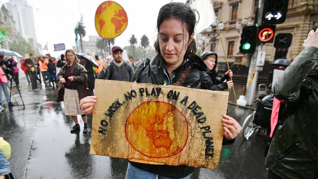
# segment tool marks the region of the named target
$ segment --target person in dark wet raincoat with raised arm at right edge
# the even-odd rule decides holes
[[[279,117],[265,164],[269,179],[318,178],[318,30],[273,85],[286,104]]]

